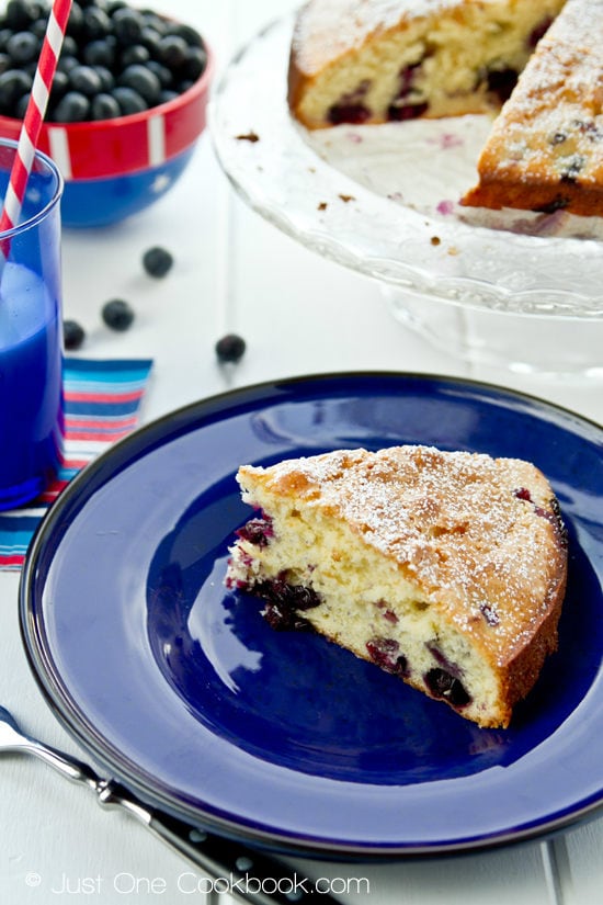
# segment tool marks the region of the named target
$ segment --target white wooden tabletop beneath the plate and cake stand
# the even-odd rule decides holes
[[[294,3],[172,0],[168,5],[172,15],[206,35],[221,68],[238,45]],[[140,256],[156,244],[171,249],[177,263],[168,279],[153,282],[144,276]],[[155,359],[145,420],[229,386],[371,369],[476,377],[603,420],[601,383],[469,366],[397,324],[373,281],[306,250],[249,211],[224,177],[207,135],[191,169],[153,208],[112,229],[66,233],[64,271],[65,315],[88,331],[82,355]],[[102,303],[116,295],[137,312],[134,327],[123,335],[111,333],[100,320]],[[248,350],[227,372],[216,364],[214,343],[231,330],[246,338]],[[562,327],[558,341],[562,346]],[[18,576],[0,574],[0,702],[30,733],[81,757],[30,675],[16,593]],[[133,819],[101,811],[91,795],[27,758],[3,759],[0,777],[0,902],[204,901],[203,893],[180,882],[191,867]],[[601,903],[603,819],[572,829],[555,851],[558,883],[539,841],[437,862],[294,863],[308,876],[367,878],[369,896],[350,892],[340,896],[344,902]]]

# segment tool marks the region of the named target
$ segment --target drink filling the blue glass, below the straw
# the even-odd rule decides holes
[[[62,417],[59,304],[37,274],[7,263],[0,282],[0,508],[56,474]]]

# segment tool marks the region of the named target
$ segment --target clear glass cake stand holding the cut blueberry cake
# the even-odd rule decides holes
[[[248,204],[378,281],[394,316],[470,362],[603,376],[603,228],[564,212],[459,205],[485,116],[308,132],[289,115],[293,18],[236,55],[211,104],[218,159]]]

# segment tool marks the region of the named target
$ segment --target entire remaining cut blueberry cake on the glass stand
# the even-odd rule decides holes
[[[603,215],[603,0],[309,0],[288,104],[307,128],[490,114],[462,204]]]

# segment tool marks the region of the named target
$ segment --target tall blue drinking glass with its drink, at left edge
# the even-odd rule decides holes
[[[14,142],[0,140],[0,199]],[[61,177],[37,152],[19,225],[0,233],[0,509],[55,477],[62,437]]]

